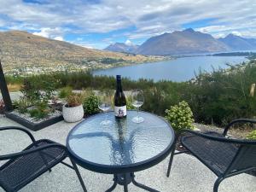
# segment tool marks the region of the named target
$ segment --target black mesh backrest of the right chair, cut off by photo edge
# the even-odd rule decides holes
[[[241,144],[226,174],[256,168],[256,145]]]

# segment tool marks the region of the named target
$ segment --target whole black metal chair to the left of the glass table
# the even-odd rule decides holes
[[[31,138],[32,144],[21,152],[0,155],[0,162],[4,160],[3,166],[0,166],[0,187],[5,191],[15,192],[22,189],[44,172],[51,172],[51,168],[58,163],[72,168],[79,177],[82,188],[86,191],[78,167],[73,160],[70,159],[73,166],[63,162],[69,157],[65,146],[48,139],[36,141],[31,132],[20,127],[0,127],[0,131],[9,130],[25,132]]]

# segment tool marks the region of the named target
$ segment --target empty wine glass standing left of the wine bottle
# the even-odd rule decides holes
[[[102,120],[101,124],[102,126],[108,126],[112,125],[112,121],[107,119],[107,113],[108,110],[111,108],[111,96],[107,92],[100,92],[98,94],[98,108],[102,110],[103,113],[105,113],[105,119]]]

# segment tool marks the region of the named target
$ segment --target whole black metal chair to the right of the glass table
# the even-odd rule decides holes
[[[214,172],[218,179],[214,183],[213,192],[218,192],[219,183],[224,178],[242,172],[256,170],[256,141],[227,137],[230,127],[236,123],[256,124],[254,119],[236,119],[219,134],[213,131],[198,132],[185,130],[181,143],[187,150],[175,153],[172,149],[168,165],[167,177],[170,176],[174,154],[189,152]],[[178,138],[176,138],[177,143]]]

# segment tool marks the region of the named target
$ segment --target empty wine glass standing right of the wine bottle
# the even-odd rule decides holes
[[[131,92],[131,98],[132,98],[132,106],[137,108],[137,116],[132,118],[132,121],[134,123],[142,123],[144,121],[143,117],[139,116],[139,108],[143,105],[144,102],[144,96],[143,96],[143,90],[132,90]]]

